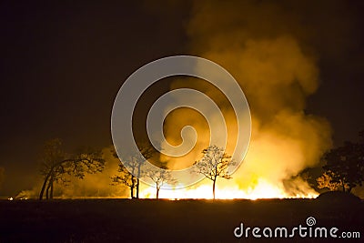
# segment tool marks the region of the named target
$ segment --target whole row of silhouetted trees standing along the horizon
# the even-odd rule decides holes
[[[150,145],[139,147],[140,153],[119,158],[116,175],[111,177],[111,184],[123,185],[129,188],[131,198],[139,198],[140,178],[147,177],[156,187],[156,197],[166,183],[177,184],[166,164],[160,163],[159,170],[149,170],[144,167],[147,160],[153,157],[156,150]],[[100,150],[83,147],[74,153],[66,153],[60,139],[45,143],[42,155],[41,175],[44,178],[39,199],[52,199],[56,184],[67,185],[67,177],[83,179],[86,174],[96,174],[103,171],[105,159]],[[215,145],[202,151],[202,158],[194,163],[194,171],[207,177],[212,182],[212,194],[215,198],[217,178],[231,178],[228,167],[237,163],[225,150]],[[362,186],[364,181],[364,131],[359,133],[358,142],[345,142],[324,154],[321,167],[310,167],[303,170],[298,177],[304,178],[316,190],[341,190],[351,192],[354,187]]]

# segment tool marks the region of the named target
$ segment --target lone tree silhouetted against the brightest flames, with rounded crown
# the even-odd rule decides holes
[[[231,156],[228,156],[225,153],[223,148],[215,145],[202,150],[202,154],[204,157],[194,163],[194,166],[196,167],[195,172],[212,180],[212,194],[215,199],[217,177],[226,179],[231,178],[227,169],[229,166],[235,165],[236,162],[231,159]]]

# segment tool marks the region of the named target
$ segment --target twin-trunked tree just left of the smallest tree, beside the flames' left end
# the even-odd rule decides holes
[[[134,197],[134,189],[136,189],[136,198],[139,198],[139,185],[140,177],[143,177],[143,166],[147,162],[147,159],[153,157],[155,150],[147,143],[142,143],[139,147],[140,153],[134,154],[128,157],[118,157],[114,150],[113,155],[119,158],[119,175],[111,177],[113,183],[124,184],[130,188],[130,197]],[[122,160],[122,161],[121,161]]]

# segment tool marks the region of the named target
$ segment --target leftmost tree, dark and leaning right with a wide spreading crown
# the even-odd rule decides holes
[[[101,151],[84,147],[75,154],[66,154],[62,149],[62,141],[58,138],[45,143],[42,156],[41,174],[44,177],[39,199],[53,198],[56,183],[66,183],[66,175],[83,179],[88,174],[101,172],[105,166],[105,159]]]

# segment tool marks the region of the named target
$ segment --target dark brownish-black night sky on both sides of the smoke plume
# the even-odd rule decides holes
[[[36,157],[50,138],[69,149],[110,145],[111,109],[126,77],[163,56],[194,55],[186,31],[191,4],[65,2],[0,4],[0,196],[32,187]],[[302,25],[318,34],[309,45],[321,83],[307,110],[329,119],[339,145],[364,129],[364,7],[312,1],[302,11]]]

